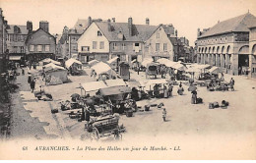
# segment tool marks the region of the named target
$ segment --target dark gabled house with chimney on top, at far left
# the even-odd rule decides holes
[[[26,40],[26,58],[30,62],[38,62],[44,58],[55,59],[56,38],[48,32],[48,23],[40,22],[39,28]]]

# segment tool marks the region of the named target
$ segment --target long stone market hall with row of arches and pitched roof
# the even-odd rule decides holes
[[[250,13],[198,29],[197,62],[222,68],[224,73],[240,75],[249,68],[249,25],[256,21]]]

